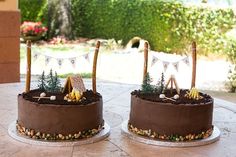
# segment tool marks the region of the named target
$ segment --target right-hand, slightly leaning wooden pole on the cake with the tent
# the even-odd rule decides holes
[[[96,71],[97,71],[97,58],[98,58],[99,47],[100,47],[100,41],[97,41],[96,49],[95,49],[95,52],[94,52],[94,58],[93,58],[93,73],[92,73],[93,93],[97,92]]]

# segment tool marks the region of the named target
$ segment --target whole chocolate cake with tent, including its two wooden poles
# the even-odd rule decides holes
[[[31,42],[27,41],[26,90],[18,95],[17,133],[40,140],[77,140],[92,137],[104,128],[102,96],[96,90],[97,42],[92,88],[85,88],[80,75],[69,76],[64,88],[57,73],[43,72],[38,88],[30,89]]]

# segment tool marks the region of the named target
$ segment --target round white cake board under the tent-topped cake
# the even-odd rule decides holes
[[[110,135],[110,126],[105,123],[104,129],[102,129],[98,134],[90,138],[84,138],[74,141],[46,141],[39,139],[32,139],[27,136],[22,136],[17,133],[16,122],[12,122],[8,127],[8,134],[15,140],[31,144],[31,145],[41,145],[41,146],[52,146],[52,147],[70,147],[70,146],[79,146],[84,144],[91,144],[98,141],[101,141],[107,138]]]

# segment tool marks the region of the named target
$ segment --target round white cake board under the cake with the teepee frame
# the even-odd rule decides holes
[[[216,126],[214,126],[212,135],[210,137],[206,139],[186,141],[186,142],[161,141],[161,140],[137,135],[128,130],[128,120],[124,121],[121,127],[122,127],[121,128],[122,133],[134,141],[150,144],[150,145],[155,145],[155,146],[163,146],[163,147],[195,147],[195,146],[211,144],[220,139],[220,130]]]

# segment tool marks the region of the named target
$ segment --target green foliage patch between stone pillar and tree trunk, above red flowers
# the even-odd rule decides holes
[[[47,24],[47,0],[19,0],[21,22],[41,21]]]

